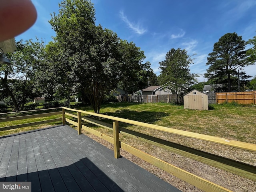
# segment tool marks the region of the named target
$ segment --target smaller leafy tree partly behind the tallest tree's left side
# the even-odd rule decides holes
[[[73,78],[71,66],[65,62],[69,54],[64,52],[58,42],[49,42],[45,48],[45,56],[42,65],[36,73],[36,87],[41,95],[57,100],[72,95]]]

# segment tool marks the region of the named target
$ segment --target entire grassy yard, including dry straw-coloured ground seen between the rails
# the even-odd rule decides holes
[[[74,108],[94,112],[90,106],[77,106]],[[190,132],[256,144],[255,106],[242,106],[237,104],[211,104],[209,108],[210,110],[208,111],[184,110],[182,105],[171,105],[167,103],[122,102],[114,104],[103,104],[100,109],[100,113],[170,128],[176,128],[179,130],[186,130]],[[16,124],[24,123],[23,121],[24,120],[21,122],[16,122]],[[51,125],[53,125],[53,123]],[[0,127],[2,126],[3,123],[0,123]],[[129,124],[120,123],[120,126],[256,166],[256,153],[253,152],[225,147],[219,144],[212,144],[192,138],[185,138],[174,134],[167,134],[138,126],[131,126]],[[37,128],[41,127],[44,127],[44,125],[38,126]],[[112,132],[110,130],[106,130],[97,126],[91,127],[102,133],[112,136]],[[30,128],[24,128],[18,130],[26,131],[29,129]],[[14,131],[17,130],[8,130],[4,134],[11,134],[14,133]],[[83,133],[90,136],[97,142],[104,144],[108,148],[113,148],[113,146],[108,142],[105,142],[104,140],[101,140],[92,134],[88,134],[86,132]],[[0,135],[2,135],[1,132]],[[230,190],[237,192],[256,191],[256,183],[250,180],[246,180],[239,176],[234,176],[233,174],[218,170],[188,158],[184,158],[177,154],[166,152],[161,148],[156,148],[156,146],[148,145],[144,142],[140,142],[129,137],[120,136],[120,140],[166,162],[170,162],[174,166],[178,166],[193,174],[220,184],[221,186],[224,186]],[[190,186],[189,184],[186,184],[185,182],[171,176],[170,174],[152,166],[151,164],[148,164],[147,162],[144,162],[139,158],[128,154],[127,152],[121,150],[121,155],[135,162],[144,169],[152,172],[153,174],[159,176],[163,180],[166,180],[182,191],[200,191],[193,186]]]

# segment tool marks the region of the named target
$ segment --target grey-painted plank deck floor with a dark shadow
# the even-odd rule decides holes
[[[33,192],[179,191],[67,125],[0,137],[4,181],[30,181]]]

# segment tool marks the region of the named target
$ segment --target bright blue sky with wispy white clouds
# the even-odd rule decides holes
[[[38,12],[34,26],[16,40],[35,39],[46,43],[56,36],[48,20],[58,13],[61,0],[32,0]],[[256,36],[256,0],[92,0],[96,23],[144,51],[151,68],[159,75],[159,63],[172,48],[196,54],[192,73],[206,73],[207,56],[226,33],[236,32],[243,40]],[[255,76],[256,65],[245,68]],[[203,75],[198,78],[204,81]],[[206,80],[206,79],[205,79]]]

